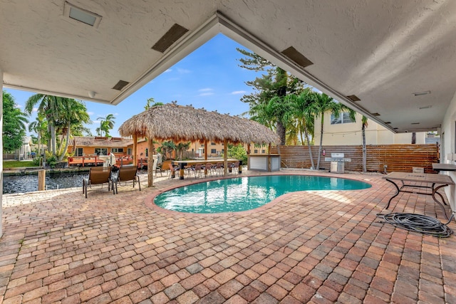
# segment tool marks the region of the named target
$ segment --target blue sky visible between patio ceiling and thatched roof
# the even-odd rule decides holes
[[[239,67],[239,58],[243,56],[236,51],[237,47],[244,48],[219,34],[119,105],[103,105],[84,100],[93,121],[87,127],[96,135],[95,129],[100,126],[97,118],[112,113],[115,115],[115,126],[110,135],[118,137],[120,125],[142,112],[148,98],[154,98],[161,103],[177,100],[178,105],[192,105],[195,108],[217,110],[230,115],[246,112],[249,105],[242,103],[240,99],[243,95],[252,93],[252,88],[245,82],[254,80],[261,74]],[[34,94],[9,88],[4,90],[14,96],[21,110],[24,110],[26,100]],[[28,120],[35,120],[35,116],[31,115]]]

